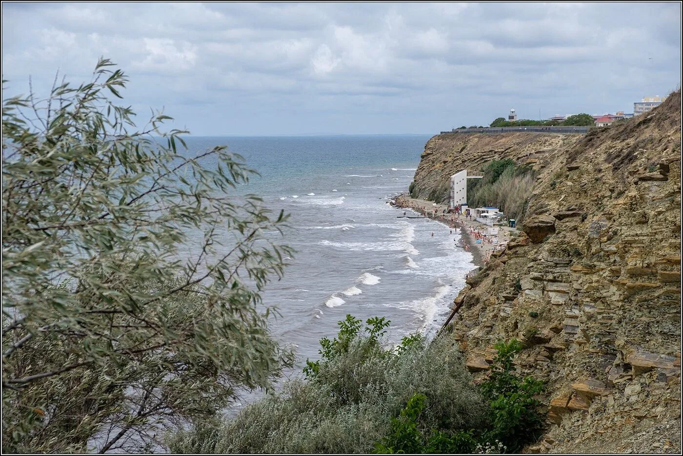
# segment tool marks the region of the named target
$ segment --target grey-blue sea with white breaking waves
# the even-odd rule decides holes
[[[217,145],[260,173],[240,194],[290,214],[283,241],[292,264],[266,286],[269,328],[294,348],[301,374],[318,359],[318,341],[337,334],[347,314],[391,321],[387,344],[408,333],[433,335],[475,266],[457,230],[389,200],[407,192],[429,135],[222,136],[187,138],[187,153]],[[210,166],[210,164],[207,164]]]

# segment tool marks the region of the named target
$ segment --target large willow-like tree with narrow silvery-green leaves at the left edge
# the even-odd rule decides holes
[[[149,449],[291,361],[260,299],[286,215],[236,196],[254,171],[225,147],[138,129],[112,66],[3,100],[5,451]]]

